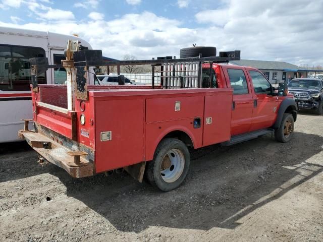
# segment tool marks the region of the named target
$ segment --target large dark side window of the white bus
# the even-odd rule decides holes
[[[0,90],[30,90],[29,58],[44,56],[41,48],[0,45]],[[46,84],[45,73],[38,76],[38,83]]]

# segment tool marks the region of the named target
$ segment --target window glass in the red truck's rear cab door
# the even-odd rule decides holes
[[[230,85],[233,88],[233,94],[248,93],[248,85],[243,70],[228,69]]]

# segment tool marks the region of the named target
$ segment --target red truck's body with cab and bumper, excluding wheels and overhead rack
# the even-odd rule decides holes
[[[296,120],[292,104],[282,107],[291,95],[261,91],[272,86],[260,71],[223,64],[212,70],[214,88],[88,85],[87,100],[75,98],[74,111],[67,109],[66,86],[38,85],[32,92],[35,131],[20,134],[74,177],[118,168],[136,176],[132,168],[138,165],[142,180],[145,162],[165,138],[194,149],[230,145],[278,129],[281,112]]]

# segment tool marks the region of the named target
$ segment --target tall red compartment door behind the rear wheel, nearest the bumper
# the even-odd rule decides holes
[[[94,123],[96,173],[144,160],[143,99],[96,101]]]

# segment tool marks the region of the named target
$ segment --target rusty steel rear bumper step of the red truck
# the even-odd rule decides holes
[[[66,149],[61,144],[35,132],[20,131],[19,136],[44,159],[79,178],[94,174],[94,164],[84,158],[88,153]]]

